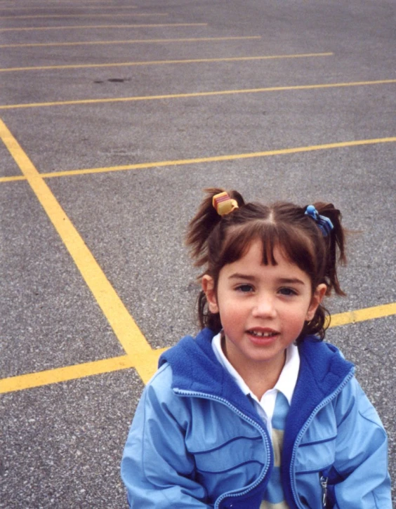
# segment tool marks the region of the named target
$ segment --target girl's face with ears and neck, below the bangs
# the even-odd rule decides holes
[[[277,265],[263,265],[262,250],[261,242],[252,242],[242,258],[224,265],[217,289],[211,277],[202,279],[209,310],[220,313],[225,355],[239,374],[263,367],[280,374],[286,348],[326,291],[320,284],[312,294],[310,277],[277,248]]]

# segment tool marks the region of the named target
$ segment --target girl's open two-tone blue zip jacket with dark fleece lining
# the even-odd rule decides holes
[[[270,437],[212,338],[204,329],[167,350],[143,392],[121,463],[131,508],[260,507]],[[289,508],[391,509],[387,437],[353,365],[313,336],[299,352],[282,452]]]

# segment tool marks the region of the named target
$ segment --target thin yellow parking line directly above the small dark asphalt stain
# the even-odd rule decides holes
[[[333,53],[304,53],[301,55],[265,55],[256,57],[226,58],[188,58],[185,60],[145,60],[143,62],[114,62],[111,64],[75,64],[75,65],[41,65],[38,67],[3,67],[0,72],[53,70],[53,69],[88,69],[92,67],[131,67],[136,65],[169,65],[169,64],[201,64],[210,62],[249,62],[252,60],[272,60],[278,58],[324,57]]]

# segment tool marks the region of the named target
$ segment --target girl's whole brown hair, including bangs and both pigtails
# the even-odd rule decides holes
[[[251,242],[259,239],[263,244],[263,264],[276,265],[274,249],[279,247],[284,256],[295,263],[310,277],[312,291],[318,284],[325,283],[326,295],[341,290],[337,276],[337,264],[346,263],[345,232],[341,226],[341,212],[333,204],[315,202],[313,205],[321,216],[331,220],[334,228],[324,237],[315,220],[305,214],[306,206],[277,202],[270,206],[259,203],[245,203],[237,191],[228,191],[239,206],[226,216],[219,216],[212,206],[215,194],[223,189],[206,189],[206,197],[192,218],[187,230],[187,246],[190,246],[194,265],[204,267],[202,275],[213,278],[215,289],[221,268],[242,258]],[[326,315],[319,305],[310,322],[305,322],[297,343],[307,334],[324,338]],[[198,298],[198,316],[202,327],[209,327],[216,333],[222,329],[220,315],[209,311],[206,295],[201,291]]]

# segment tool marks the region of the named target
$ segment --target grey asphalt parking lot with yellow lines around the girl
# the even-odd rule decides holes
[[[0,0],[0,508],[126,507],[140,393],[197,331],[183,238],[212,186],[341,209],[326,339],[395,479],[395,26],[394,0]]]

